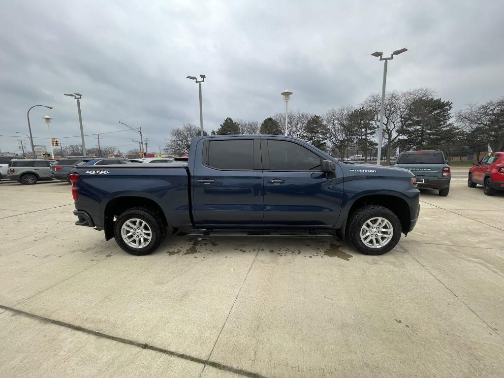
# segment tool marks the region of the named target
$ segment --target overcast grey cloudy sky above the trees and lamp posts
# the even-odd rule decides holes
[[[496,1],[2,1],[0,149],[19,134],[78,144],[85,134],[141,126],[149,146],[170,130],[227,117],[259,120],[292,110],[322,114],[379,92],[383,62],[370,56],[406,47],[389,65],[387,89],[431,87],[454,109],[504,94],[504,3]],[[51,135],[42,116],[50,115]],[[16,136],[16,137],[9,137]],[[133,132],[103,145],[135,148]],[[86,137],[86,147],[95,146]],[[48,140],[35,139],[35,144]],[[151,149],[151,148],[149,148]]]

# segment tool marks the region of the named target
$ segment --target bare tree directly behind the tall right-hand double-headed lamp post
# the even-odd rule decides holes
[[[383,134],[387,145],[387,162],[390,164],[390,156],[394,142],[401,136],[407,117],[415,101],[432,97],[434,91],[429,88],[411,89],[405,92],[391,91],[385,96],[385,111],[383,117]],[[382,96],[378,93],[370,94],[363,106],[374,114],[374,123],[380,126],[380,108]]]

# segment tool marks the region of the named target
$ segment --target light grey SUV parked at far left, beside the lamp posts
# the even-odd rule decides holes
[[[10,180],[33,185],[37,181],[51,180],[51,160],[45,159],[13,159],[9,162],[8,176]]]

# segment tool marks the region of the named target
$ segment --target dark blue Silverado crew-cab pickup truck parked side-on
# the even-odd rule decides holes
[[[137,256],[180,227],[208,237],[335,234],[381,255],[420,211],[410,171],[338,162],[284,136],[197,137],[187,165],[76,166],[70,179],[76,224]]]

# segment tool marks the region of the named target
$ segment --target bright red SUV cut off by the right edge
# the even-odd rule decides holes
[[[494,152],[480,162],[473,162],[469,169],[467,186],[483,185],[483,192],[493,196],[496,191],[504,191],[504,152]]]

